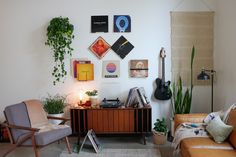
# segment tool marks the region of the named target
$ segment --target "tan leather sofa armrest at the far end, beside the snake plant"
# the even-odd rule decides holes
[[[175,114],[174,121],[176,129],[180,124],[185,122],[202,123],[207,113]]]

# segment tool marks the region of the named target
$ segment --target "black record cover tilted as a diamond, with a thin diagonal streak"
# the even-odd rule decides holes
[[[111,47],[122,59],[124,59],[133,48],[134,46],[124,36],[121,36]]]

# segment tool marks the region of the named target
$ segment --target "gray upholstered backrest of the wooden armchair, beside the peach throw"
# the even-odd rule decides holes
[[[8,121],[9,124],[31,127],[28,112],[24,103],[7,106],[4,112],[6,120]],[[25,130],[12,129],[11,133],[14,142],[17,141],[19,136],[22,136],[27,132],[28,131]]]

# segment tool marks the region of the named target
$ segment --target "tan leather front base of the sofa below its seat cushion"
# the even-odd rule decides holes
[[[190,157],[236,157],[235,150],[196,149],[189,150]],[[182,156],[185,157],[185,156]]]

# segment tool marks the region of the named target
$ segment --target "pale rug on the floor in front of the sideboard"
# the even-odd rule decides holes
[[[68,154],[68,151],[63,151],[60,157],[161,157],[158,149],[102,149],[100,153],[94,150],[82,150],[77,153]]]

